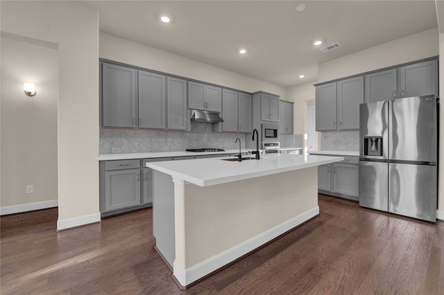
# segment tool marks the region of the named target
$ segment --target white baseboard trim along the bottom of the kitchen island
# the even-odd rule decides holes
[[[287,231],[306,222],[307,220],[310,220],[316,215],[319,215],[319,206],[311,208],[309,211],[305,211],[287,222],[283,222],[282,224],[279,224],[278,226],[275,226],[264,233],[256,235],[245,242],[241,242],[241,244],[237,244],[236,246],[231,247],[230,249],[227,249],[216,256],[203,260],[202,262],[189,267],[188,269],[182,269],[182,267],[176,263],[176,260],[174,260],[173,276],[176,278],[176,281],[180,285],[181,289],[185,288],[194,281],[203,278],[207,274],[216,271],[217,269],[227,265],[241,256],[244,256],[258,247],[261,247],[263,244],[266,244],[266,242],[277,238],[279,235],[286,233]]]

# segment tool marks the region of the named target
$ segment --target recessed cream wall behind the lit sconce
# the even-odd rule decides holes
[[[24,82],[35,83],[35,96]],[[1,213],[57,206],[57,45],[1,34],[1,84]]]

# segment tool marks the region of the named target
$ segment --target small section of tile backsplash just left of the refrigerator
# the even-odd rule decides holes
[[[321,150],[359,151],[359,130],[322,132]]]

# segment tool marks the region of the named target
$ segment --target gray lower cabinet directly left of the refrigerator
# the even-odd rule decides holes
[[[359,157],[344,158],[341,162],[318,166],[318,191],[359,201]]]

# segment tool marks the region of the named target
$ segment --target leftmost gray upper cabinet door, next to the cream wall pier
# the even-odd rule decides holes
[[[102,64],[103,127],[135,128],[136,71]]]

